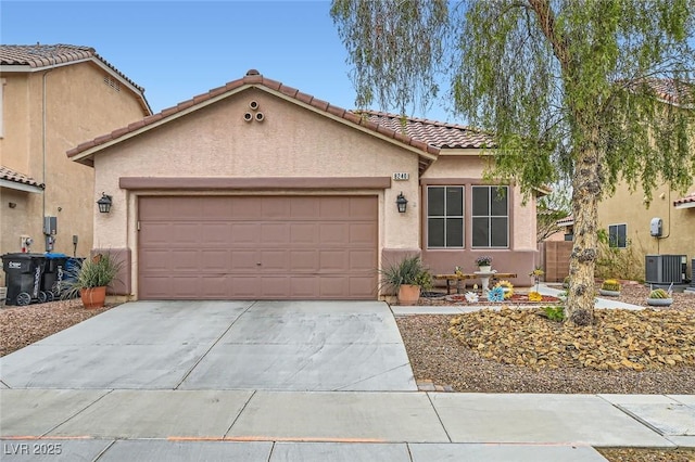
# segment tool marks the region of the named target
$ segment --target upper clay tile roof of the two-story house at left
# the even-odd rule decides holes
[[[144,89],[130,80],[111,63],[101,57],[93,48],[75,44],[0,44],[0,64],[29,67],[52,67],[58,64],[94,57],[118,74],[140,92]]]

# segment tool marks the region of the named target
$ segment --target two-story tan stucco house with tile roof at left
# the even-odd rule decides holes
[[[88,255],[94,172],[65,151],[150,114],[143,89],[92,48],[1,44],[0,253],[30,236],[34,253]],[[52,235],[45,217],[55,217]]]

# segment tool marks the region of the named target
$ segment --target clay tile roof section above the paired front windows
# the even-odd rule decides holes
[[[368,120],[439,149],[480,149],[493,146],[492,136],[463,125],[444,124],[421,118],[375,111],[358,111]]]

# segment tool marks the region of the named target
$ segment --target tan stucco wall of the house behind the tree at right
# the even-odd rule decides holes
[[[607,232],[610,224],[627,224],[629,247],[642,266],[645,255],[686,255],[691,275],[691,260],[695,258],[695,208],[673,206],[673,201],[683,195],[662,185],[654,191],[647,204],[642,189],[631,193],[626,185],[619,185],[612,197],[598,204],[599,227]],[[660,239],[649,235],[653,218],[664,221]]]

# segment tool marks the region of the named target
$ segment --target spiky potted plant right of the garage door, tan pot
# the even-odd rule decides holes
[[[393,287],[399,305],[415,305],[421,288],[432,286],[432,277],[419,256],[403,258],[381,270],[381,283]]]

